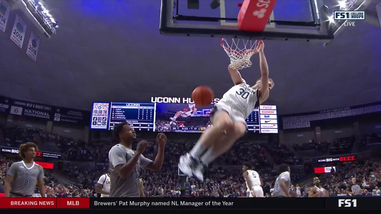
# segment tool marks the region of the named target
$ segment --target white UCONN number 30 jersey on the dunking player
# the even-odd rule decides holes
[[[235,108],[245,115],[246,119],[251,112],[259,106],[258,90],[253,89],[246,83],[233,86],[227,91],[220,101],[227,101],[235,104]]]

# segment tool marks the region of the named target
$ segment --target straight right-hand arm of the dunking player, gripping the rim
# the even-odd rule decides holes
[[[259,97],[259,102],[262,103],[266,101],[269,97],[269,66],[267,65],[266,57],[264,56],[264,43],[261,41],[259,46],[259,68],[261,69],[261,97]]]

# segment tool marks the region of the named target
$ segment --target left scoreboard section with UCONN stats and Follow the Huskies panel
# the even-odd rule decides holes
[[[155,107],[151,102],[94,102],[90,129],[112,130],[126,122],[137,131],[153,131]]]

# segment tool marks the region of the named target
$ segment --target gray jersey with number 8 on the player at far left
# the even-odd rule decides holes
[[[24,161],[13,163],[7,174],[13,176],[11,193],[17,193],[20,195],[33,195],[37,180],[45,177],[42,166],[34,162],[32,164],[25,164]]]

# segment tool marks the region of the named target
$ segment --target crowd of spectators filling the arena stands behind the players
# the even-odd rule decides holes
[[[5,144],[8,146],[18,147],[19,144],[34,141],[36,130],[22,129],[19,127],[3,128]],[[73,139],[59,136],[56,134],[46,133],[38,130],[41,139],[45,142],[50,141],[56,143],[58,148],[67,161],[59,171],[55,173],[66,177],[74,182],[73,185],[56,184],[47,176],[46,177],[46,195],[51,197],[95,197],[97,194],[93,188],[99,177],[107,172],[108,168],[108,151],[115,145],[112,140],[95,140],[91,142],[74,141]],[[379,136],[378,136],[379,137]],[[376,141],[376,137],[366,136],[367,143]],[[376,140],[374,140],[376,139]],[[379,138],[378,138],[379,139]],[[352,149],[352,138],[335,139],[332,147]],[[144,152],[145,157],[154,159],[157,152],[157,146],[154,141],[149,142],[149,147]],[[152,172],[149,170],[142,171],[140,174],[144,183],[144,195],[150,197],[179,197],[181,195],[180,180],[178,176],[178,160],[180,155],[189,151],[194,141],[176,142],[168,140],[165,150],[165,162],[162,170]],[[344,146],[345,144],[345,146]],[[329,144],[327,142],[311,142],[302,146],[294,146],[293,149],[288,148],[284,144],[251,144],[249,142],[240,141],[234,144],[229,152],[225,153],[213,162],[204,182],[190,178],[190,194],[191,196],[200,197],[241,197],[246,196],[246,184],[242,177],[242,163],[251,161],[254,168],[259,172],[264,180],[264,194],[266,197],[271,196],[272,188],[277,173],[272,170],[273,164],[288,163],[302,164],[302,160],[296,157],[295,151],[299,150],[327,150]],[[352,145],[353,146],[353,145]],[[133,145],[133,149],[136,144]],[[342,149],[340,151],[346,151]],[[270,158],[269,158],[270,156]],[[272,160],[270,160],[272,159]],[[0,180],[5,179],[5,171],[14,160],[0,159]],[[94,167],[80,166],[76,161],[93,161],[104,163],[102,165],[94,165]],[[237,168],[223,169],[219,166],[238,165]],[[330,195],[347,194],[347,187],[351,177],[363,181],[364,195],[379,195],[379,187],[381,187],[381,165],[379,160],[367,161],[365,163],[350,163],[343,169],[336,172],[325,174],[322,178],[322,184]],[[303,167],[299,170],[291,172],[291,181],[293,185],[290,191],[295,191],[299,197],[308,195],[308,187],[299,186],[297,182],[306,180]],[[309,177],[311,179],[311,177]],[[1,183],[0,183],[1,185]],[[295,186],[294,186],[295,185]]]

